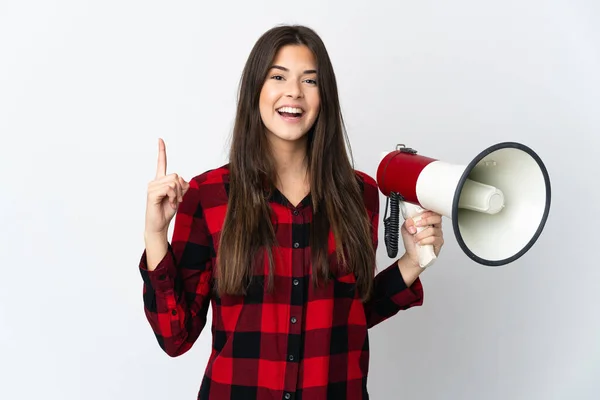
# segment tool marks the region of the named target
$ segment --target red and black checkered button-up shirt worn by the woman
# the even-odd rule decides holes
[[[377,243],[378,188],[369,175],[357,175]],[[217,297],[212,274],[228,186],[227,166],[193,178],[167,255],[148,271],[142,254],[145,312],[159,345],[173,357],[189,350],[206,325],[210,304],[212,352],[199,399],[368,399],[367,330],[421,305],[421,281],[407,287],[394,262],[375,276],[374,294],[365,304],[353,274],[334,273],[329,285],[313,287],[310,195],[294,207],[275,191],[269,200],[279,246],[275,290],[263,285],[265,264],[246,296]]]

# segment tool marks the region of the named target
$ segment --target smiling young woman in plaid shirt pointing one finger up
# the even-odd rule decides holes
[[[189,182],[159,140],[140,261],[145,313],[170,356],[212,307],[199,399],[367,399],[367,330],[422,303],[415,244],[375,276],[379,192],[346,153],[335,74],[317,34],[276,27],[243,71],[229,163]],[[167,230],[175,216],[173,237]]]

